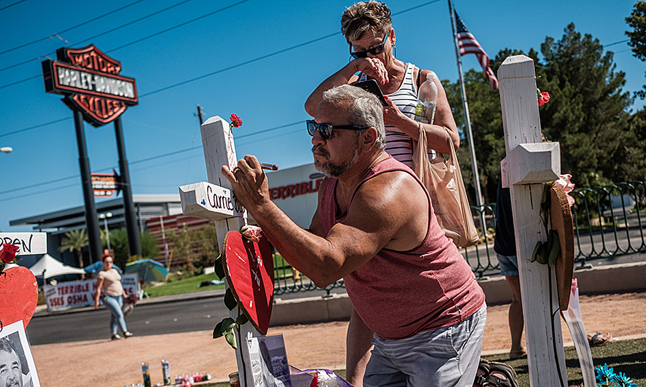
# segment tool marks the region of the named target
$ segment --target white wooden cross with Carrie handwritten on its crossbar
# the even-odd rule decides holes
[[[238,160],[228,122],[215,116],[208,118],[200,128],[208,183],[201,182],[180,187],[182,212],[184,215],[215,221],[217,243],[222,253],[226,233],[230,230],[239,230],[246,223],[247,212],[233,197],[231,184],[221,172],[223,165],[228,165],[231,170],[235,168]],[[229,284],[226,286],[228,288]],[[230,312],[230,316],[235,320],[242,313],[239,307],[236,307]],[[235,356],[240,384],[242,387],[252,387],[254,382],[246,338],[263,335],[250,322],[240,326],[239,335],[237,329],[233,330],[236,333],[238,347]]]

